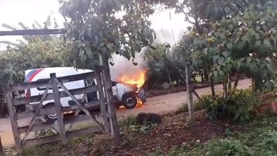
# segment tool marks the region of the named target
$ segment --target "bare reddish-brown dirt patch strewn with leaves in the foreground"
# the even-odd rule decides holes
[[[189,126],[188,113],[171,113],[163,116],[162,123],[151,128],[146,133],[138,129],[121,129],[118,141],[109,140],[107,135],[97,135],[92,143],[77,143],[66,152],[50,152],[49,155],[147,155],[157,149],[166,153],[175,147],[205,143],[212,138],[221,138],[229,128],[232,132],[242,130],[239,126],[229,123],[207,120],[204,111],[197,111],[195,125]],[[112,141],[112,142],[111,142]],[[157,148],[158,147],[158,148]]]

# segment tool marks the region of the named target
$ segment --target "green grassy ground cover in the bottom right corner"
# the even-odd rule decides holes
[[[277,116],[259,116],[244,125],[244,133],[231,133],[224,139],[214,139],[200,145],[192,143],[175,148],[169,156],[277,155]],[[158,147],[157,147],[158,149]],[[150,155],[165,155],[161,150]]]

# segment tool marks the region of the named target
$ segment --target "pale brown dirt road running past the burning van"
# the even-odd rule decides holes
[[[251,81],[249,79],[242,79],[239,81],[238,88],[246,89],[251,85]],[[222,85],[219,84],[216,87],[216,90],[222,90]],[[210,87],[197,89],[196,90],[199,95],[208,94],[210,92]],[[117,117],[126,118],[128,116],[136,116],[138,113],[170,113],[172,111],[177,110],[180,106],[183,106],[185,102],[187,102],[187,94],[186,91],[166,94],[162,96],[154,96],[147,99],[146,104],[144,104],[141,108],[134,109],[120,109],[116,111]],[[13,145],[13,133],[11,130],[11,125],[9,123],[9,118],[0,119],[0,135],[1,140],[4,147],[9,147]]]

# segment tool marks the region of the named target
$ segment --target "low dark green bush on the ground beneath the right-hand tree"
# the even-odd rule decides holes
[[[202,96],[200,105],[207,110],[211,120],[231,119],[232,121],[246,122],[251,116],[251,109],[259,104],[259,100],[249,90],[233,91],[227,97],[217,94]]]

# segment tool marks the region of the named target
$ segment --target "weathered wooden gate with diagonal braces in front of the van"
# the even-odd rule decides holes
[[[71,90],[68,90],[64,85],[67,82],[75,82],[94,78],[96,79],[97,85],[89,84],[87,87]],[[56,77],[54,73],[50,74],[50,79],[43,79],[37,82],[25,82],[22,84],[9,84],[9,82],[4,82],[2,85],[5,92],[5,98],[9,110],[11,127],[13,130],[14,142],[16,144],[17,152],[22,152],[23,147],[30,147],[33,145],[50,143],[59,140],[62,143],[66,143],[67,139],[69,138],[78,135],[85,135],[87,133],[94,133],[99,131],[110,133],[110,128],[114,127],[112,124],[110,124],[111,122],[109,122],[111,121],[111,118],[109,118],[109,111],[107,111],[107,101],[103,91],[102,77],[99,68],[96,69],[96,72],[89,72],[85,74]],[[37,87],[45,87],[44,93],[31,97],[13,98],[12,96],[12,93],[17,94],[17,91]],[[87,101],[87,94],[93,91],[98,92],[99,98],[96,101]],[[77,94],[84,95],[82,99],[76,99],[74,95]],[[76,105],[62,107],[60,98],[68,96],[75,102]],[[48,100],[54,100],[55,106],[44,107],[43,101]],[[20,104],[26,105],[28,111],[16,113],[15,106]],[[63,116],[64,111],[75,111],[75,115]],[[80,111],[84,112],[85,114],[80,114]],[[57,113],[57,121],[48,122],[45,120],[38,120],[38,118],[41,119],[43,116],[50,113]],[[101,113],[102,123],[97,121],[97,118],[95,117],[97,113]],[[23,124],[23,122],[21,122],[23,120],[28,120],[28,122]],[[73,131],[65,130],[65,125],[82,121],[92,121],[95,126]],[[31,131],[48,128],[56,128],[58,134],[46,136],[43,138],[28,138],[28,135],[30,135]]]

